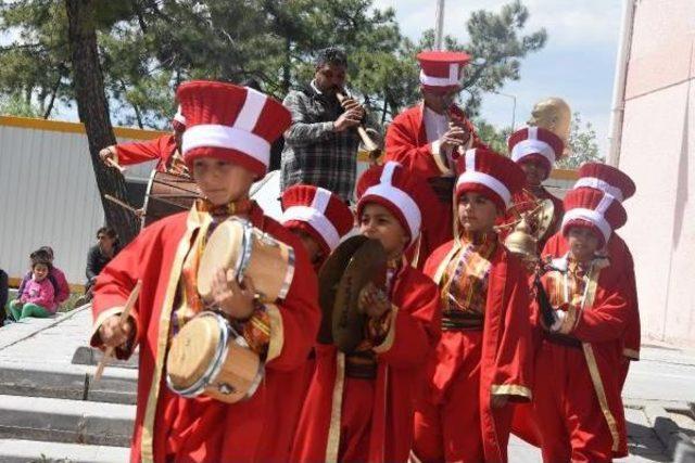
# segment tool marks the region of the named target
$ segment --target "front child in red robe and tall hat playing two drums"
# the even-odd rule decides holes
[[[304,382],[300,366],[318,331],[317,283],[301,242],[263,215],[249,189],[265,173],[270,143],[289,127],[290,114],[261,92],[222,82],[186,82],[177,97],[188,121],[186,163],[206,198],[144,229],[103,269],[94,290],[91,344],[115,347],[119,358],[140,346],[132,462],[287,461],[294,426],[278,415],[295,414],[277,397],[283,391],[287,403],[303,400],[295,384]],[[164,381],[167,345],[208,307],[197,291],[198,262],[210,232],[231,216],[289,244],[294,278],[283,298],[262,304],[250,278],[242,285],[228,281],[222,269],[215,272],[212,306],[243,326],[248,344],[265,362],[265,377],[245,401],[185,398]],[[138,280],[138,304],[121,324]]]

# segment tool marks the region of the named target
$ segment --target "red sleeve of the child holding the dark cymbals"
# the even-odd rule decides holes
[[[413,368],[427,360],[440,336],[437,285],[418,270],[406,268],[394,292],[395,318],[386,340],[374,350],[395,368]]]

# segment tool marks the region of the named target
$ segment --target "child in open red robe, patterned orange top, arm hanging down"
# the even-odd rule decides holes
[[[531,398],[531,325],[525,267],[493,227],[523,172],[483,149],[460,162],[462,233],[425,266],[440,288],[442,338],[417,406],[413,452],[421,462],[505,462],[513,402]]]

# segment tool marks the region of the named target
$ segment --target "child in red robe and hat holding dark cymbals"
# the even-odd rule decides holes
[[[367,170],[357,184],[359,230],[379,240],[390,259],[386,294],[367,286],[361,308],[367,336],[357,351],[316,348],[291,461],[405,462],[414,399],[439,336],[437,287],[403,253],[426,221],[418,202],[427,184],[397,163]]]

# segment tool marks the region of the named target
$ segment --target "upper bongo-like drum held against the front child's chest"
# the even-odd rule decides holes
[[[231,270],[239,283],[251,276],[262,303],[287,297],[294,276],[294,249],[236,217],[219,223],[210,235],[198,268],[198,292],[212,297],[217,269]]]

